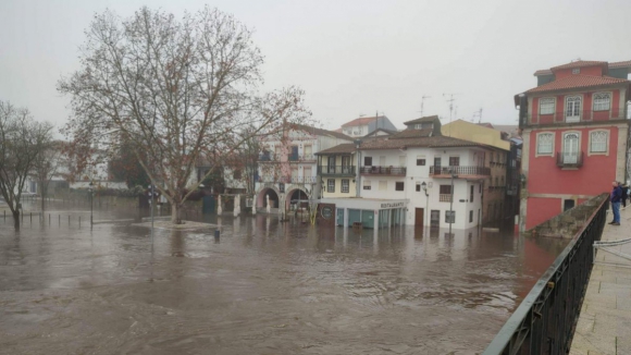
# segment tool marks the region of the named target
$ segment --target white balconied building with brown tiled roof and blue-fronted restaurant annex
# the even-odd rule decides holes
[[[355,149],[342,145],[322,151],[323,203],[337,206],[337,224],[448,228],[451,221],[451,228],[460,230],[479,225],[491,148],[434,132],[404,131]],[[351,167],[343,169],[342,161]],[[355,176],[348,174],[351,170]]]

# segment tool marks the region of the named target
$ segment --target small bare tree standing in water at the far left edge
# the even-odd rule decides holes
[[[0,193],[20,230],[22,192],[35,161],[51,140],[52,125],[36,122],[28,110],[0,101]]]

